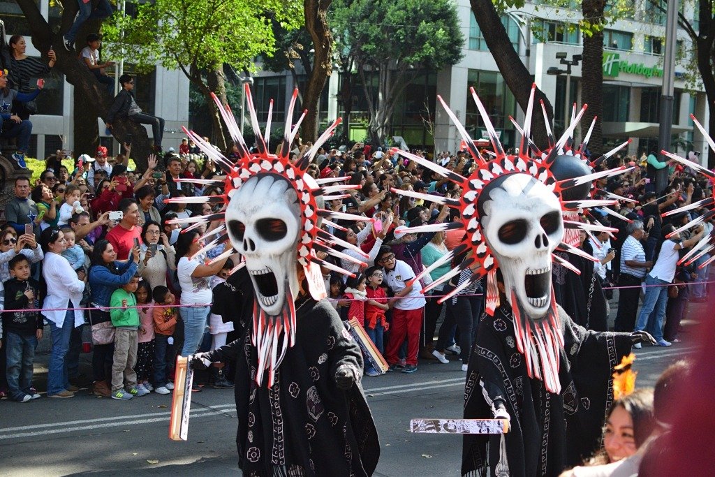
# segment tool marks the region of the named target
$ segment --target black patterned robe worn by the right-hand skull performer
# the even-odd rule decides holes
[[[601,446],[601,428],[613,402],[613,366],[631,352],[628,333],[596,333],[576,325],[558,308],[563,327],[561,393],[528,378],[516,349],[511,308],[482,315],[469,359],[464,417],[493,418],[490,400],[501,398],[511,416],[506,434],[510,476],[558,476]],[[501,436],[464,437],[462,474],[495,476]]]

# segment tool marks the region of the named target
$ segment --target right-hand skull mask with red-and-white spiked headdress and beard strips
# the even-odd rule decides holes
[[[578,164],[579,167],[563,167],[568,160],[583,162],[580,152],[573,154],[569,148],[573,141],[573,129],[586,110],[585,105],[578,114],[574,115],[570,126],[566,128],[558,142],[553,142],[549,131],[550,147],[545,152],[538,150],[531,140],[531,114],[535,89],[536,85],[531,89],[523,127],[518,127],[522,137],[517,154],[504,152],[483,104],[474,89],[471,89],[495,152],[495,158],[492,160],[487,160],[480,154],[466,129],[445,102],[438,97],[475,161],[475,169],[470,176],[463,177],[458,172],[440,167],[415,154],[398,149],[393,149],[393,153],[401,154],[423,167],[443,174],[448,180],[461,187],[463,195],[460,199],[450,199],[412,191],[393,191],[400,195],[448,205],[461,212],[460,222],[406,229],[412,232],[460,229],[465,232],[461,244],[430,265],[418,275],[418,279],[463,252],[470,252],[468,258],[440,279],[430,283],[423,291],[432,290],[450,280],[466,267],[473,267],[475,272],[472,278],[442,297],[440,301],[453,297],[460,290],[486,275],[486,310],[491,315],[499,305],[496,270],[501,269],[506,298],[513,310],[517,348],[524,355],[528,375],[543,380],[548,390],[558,393],[561,390],[561,383],[558,380],[559,350],[563,347],[563,336],[551,285],[551,266],[553,262],[558,262],[576,273],[580,271],[553,252],[556,249],[564,250],[596,261],[591,255],[566,242],[564,231],[569,229],[587,232],[614,231],[598,224],[563,220],[562,215],[569,211],[587,213],[587,207],[616,203],[614,199],[589,200],[583,192],[588,192],[589,184],[593,180],[621,174],[627,169],[619,167],[603,172],[592,172],[593,163],[588,164],[588,169],[580,167],[581,164]],[[625,144],[627,143],[623,145]],[[585,147],[583,144],[579,151]],[[606,154],[606,157],[618,149],[620,147]],[[603,158],[597,159],[598,162],[601,160]],[[580,173],[576,174],[573,171]],[[568,193],[571,190],[578,192]]]

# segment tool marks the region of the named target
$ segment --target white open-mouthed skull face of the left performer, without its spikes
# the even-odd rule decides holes
[[[266,315],[281,315],[298,292],[295,189],[277,174],[257,174],[231,197],[226,223],[233,247],[245,257],[258,305]]]

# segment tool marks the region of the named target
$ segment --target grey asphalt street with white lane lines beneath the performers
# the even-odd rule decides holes
[[[692,328],[688,326],[686,328]],[[696,333],[671,348],[636,350],[638,387],[654,385],[670,363],[694,350]],[[87,355],[83,355],[86,368]],[[46,358],[44,360],[46,362]],[[46,368],[36,365],[42,385]],[[411,434],[411,418],[461,418],[465,373],[422,361],[417,373],[365,377],[365,394],[380,433],[376,476],[458,476],[460,436]],[[89,370],[89,369],[87,369]],[[239,473],[232,390],[192,396],[189,440],[168,438],[171,395],[129,401],[95,398],[0,402],[0,476],[223,476]]]

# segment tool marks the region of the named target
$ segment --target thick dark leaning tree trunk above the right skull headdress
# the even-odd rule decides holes
[[[484,40],[494,57],[499,72],[501,72],[504,82],[516,98],[521,109],[526,111],[531,94],[531,84],[533,79],[531,73],[521,62],[518,53],[514,50],[504,25],[491,0],[470,0],[472,11],[482,31]],[[546,94],[541,89],[536,89],[534,108],[538,107],[539,100],[546,106],[546,113],[549,119],[553,119],[553,107]],[[543,122],[543,114],[535,111],[532,117],[531,134],[534,142],[540,148],[545,148],[548,144],[546,139],[546,127]]]

